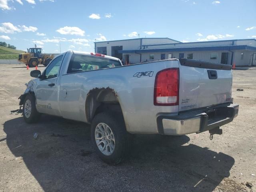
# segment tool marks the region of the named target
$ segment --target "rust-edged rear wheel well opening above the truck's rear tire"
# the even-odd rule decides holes
[[[104,111],[122,114],[116,92],[109,87],[90,90],[87,94],[85,110],[88,122],[92,122],[96,114]]]

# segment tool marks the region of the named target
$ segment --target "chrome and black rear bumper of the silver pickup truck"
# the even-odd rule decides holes
[[[166,135],[185,135],[211,130],[232,122],[238,115],[238,109],[238,104],[230,104],[183,112],[177,116],[160,114],[157,117],[158,132]]]

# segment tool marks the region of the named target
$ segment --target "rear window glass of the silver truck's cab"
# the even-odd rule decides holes
[[[103,57],[73,54],[68,65],[67,73],[80,71],[92,71],[104,68],[121,66],[118,60],[107,59]]]

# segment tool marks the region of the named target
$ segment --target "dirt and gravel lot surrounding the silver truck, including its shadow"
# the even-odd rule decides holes
[[[47,115],[26,124],[21,114],[10,114],[31,70],[0,65],[0,192],[256,191],[255,68],[233,71],[239,115],[222,126],[222,135],[136,135],[130,157],[118,166],[94,153],[87,124]]]

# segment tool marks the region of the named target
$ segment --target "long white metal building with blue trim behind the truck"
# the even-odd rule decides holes
[[[124,64],[189,58],[236,66],[256,65],[255,39],[182,43],[170,38],[137,38],[95,42],[95,52],[120,58]]]

